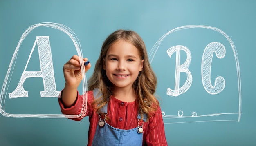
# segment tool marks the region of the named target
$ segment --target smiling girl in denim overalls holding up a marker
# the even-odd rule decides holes
[[[85,71],[90,67],[89,63]],[[79,57],[74,55],[63,72],[66,83],[59,99],[61,111],[80,114],[83,95],[77,91],[82,80]],[[154,96],[156,84],[141,37],[126,30],[110,34],[88,80],[88,145],[166,146],[162,113]]]

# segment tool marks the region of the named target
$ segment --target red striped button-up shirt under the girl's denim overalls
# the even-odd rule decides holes
[[[61,106],[61,112],[67,115],[79,115],[81,113],[83,95],[79,95],[74,106],[70,108],[64,108],[61,98],[59,104]],[[87,111],[85,116],[89,116],[90,127],[88,132],[88,145],[92,144],[97,124],[99,123],[99,115],[92,108],[92,101],[94,100],[93,91],[88,91]],[[108,103],[109,120],[106,120],[108,124],[119,129],[132,129],[138,127],[138,104],[134,102],[122,102],[115,97],[110,97]],[[82,118],[71,118],[73,120],[81,120]],[[140,124],[141,125],[141,124]],[[166,137],[164,133],[164,122],[162,119],[162,111],[158,106],[157,111],[152,114],[148,122],[144,122],[143,125],[143,145],[148,146],[167,146]]]

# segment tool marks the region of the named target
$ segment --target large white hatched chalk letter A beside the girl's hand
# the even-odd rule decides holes
[[[40,71],[26,71],[27,65],[31,58],[31,55],[35,49],[35,46],[38,46],[38,53],[40,58]],[[33,48],[27,60],[25,69],[20,77],[20,81],[16,89],[9,93],[9,98],[16,97],[28,97],[28,92],[24,90],[23,83],[27,78],[30,77],[42,77],[45,91],[40,91],[41,97],[58,97],[59,91],[56,91],[56,84],[54,79],[54,70],[52,63],[52,53],[51,46],[49,41],[49,36],[39,36],[36,37]]]

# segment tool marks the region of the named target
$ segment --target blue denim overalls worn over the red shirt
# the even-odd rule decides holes
[[[98,98],[97,92],[98,89],[94,89],[93,94],[95,99]],[[107,113],[107,107],[108,104],[103,106],[100,110],[101,113]],[[99,115],[99,117],[99,122],[101,122],[101,116]],[[146,118],[146,115],[144,115],[144,122],[146,121]],[[141,119],[140,113],[138,114],[138,120],[139,119]],[[103,121],[105,122],[105,119],[103,119]],[[103,127],[100,127],[99,124],[97,124],[92,146],[142,146],[143,133],[138,132],[138,128],[142,128],[142,126],[139,126],[138,122],[138,127],[124,130],[112,127],[106,122]]]

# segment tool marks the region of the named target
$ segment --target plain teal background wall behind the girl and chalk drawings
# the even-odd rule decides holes
[[[256,145],[256,1],[255,0],[162,0],[162,1],[83,1],[83,0],[1,0],[0,1],[0,84],[4,82],[11,58],[22,33],[40,22],[64,24],[79,38],[83,56],[88,57],[92,69],[104,39],[117,29],[132,29],[143,38],[148,53],[168,31],[184,25],[207,25],[224,31],[234,42],[240,64],[242,114],[202,118],[164,118],[166,138],[174,146],[253,146]],[[8,93],[12,92],[24,70],[24,64],[36,36],[49,36],[56,88],[64,87],[62,67],[76,54],[74,44],[65,33],[50,28],[32,31],[20,47]],[[202,86],[201,60],[205,46],[221,42],[226,47],[223,59],[213,56],[212,79],[225,78],[225,89],[209,95]],[[187,46],[192,55],[189,69],[193,83],[178,96],[166,95],[166,88],[174,87],[175,54],[169,58],[166,50],[174,45]],[[238,81],[233,52],[227,40],[214,31],[187,29],[168,35],[162,42],[152,67],[158,77],[157,95],[166,115],[184,115],[196,111],[198,115],[238,112]],[[38,70],[36,50],[27,70]],[[181,52],[181,63],[186,55]],[[180,86],[186,81],[181,73]],[[13,114],[60,114],[57,98],[40,98],[43,91],[40,78],[24,83],[28,98],[9,99],[4,108]],[[79,87],[79,91],[82,89]],[[8,95],[8,94],[7,94]],[[2,105],[1,105],[2,106]],[[224,118],[222,118],[224,117]],[[224,121],[227,120],[227,121]],[[207,122],[198,122],[207,121]],[[1,146],[82,146],[87,144],[88,117],[82,122],[66,118],[12,118],[0,115]]]

